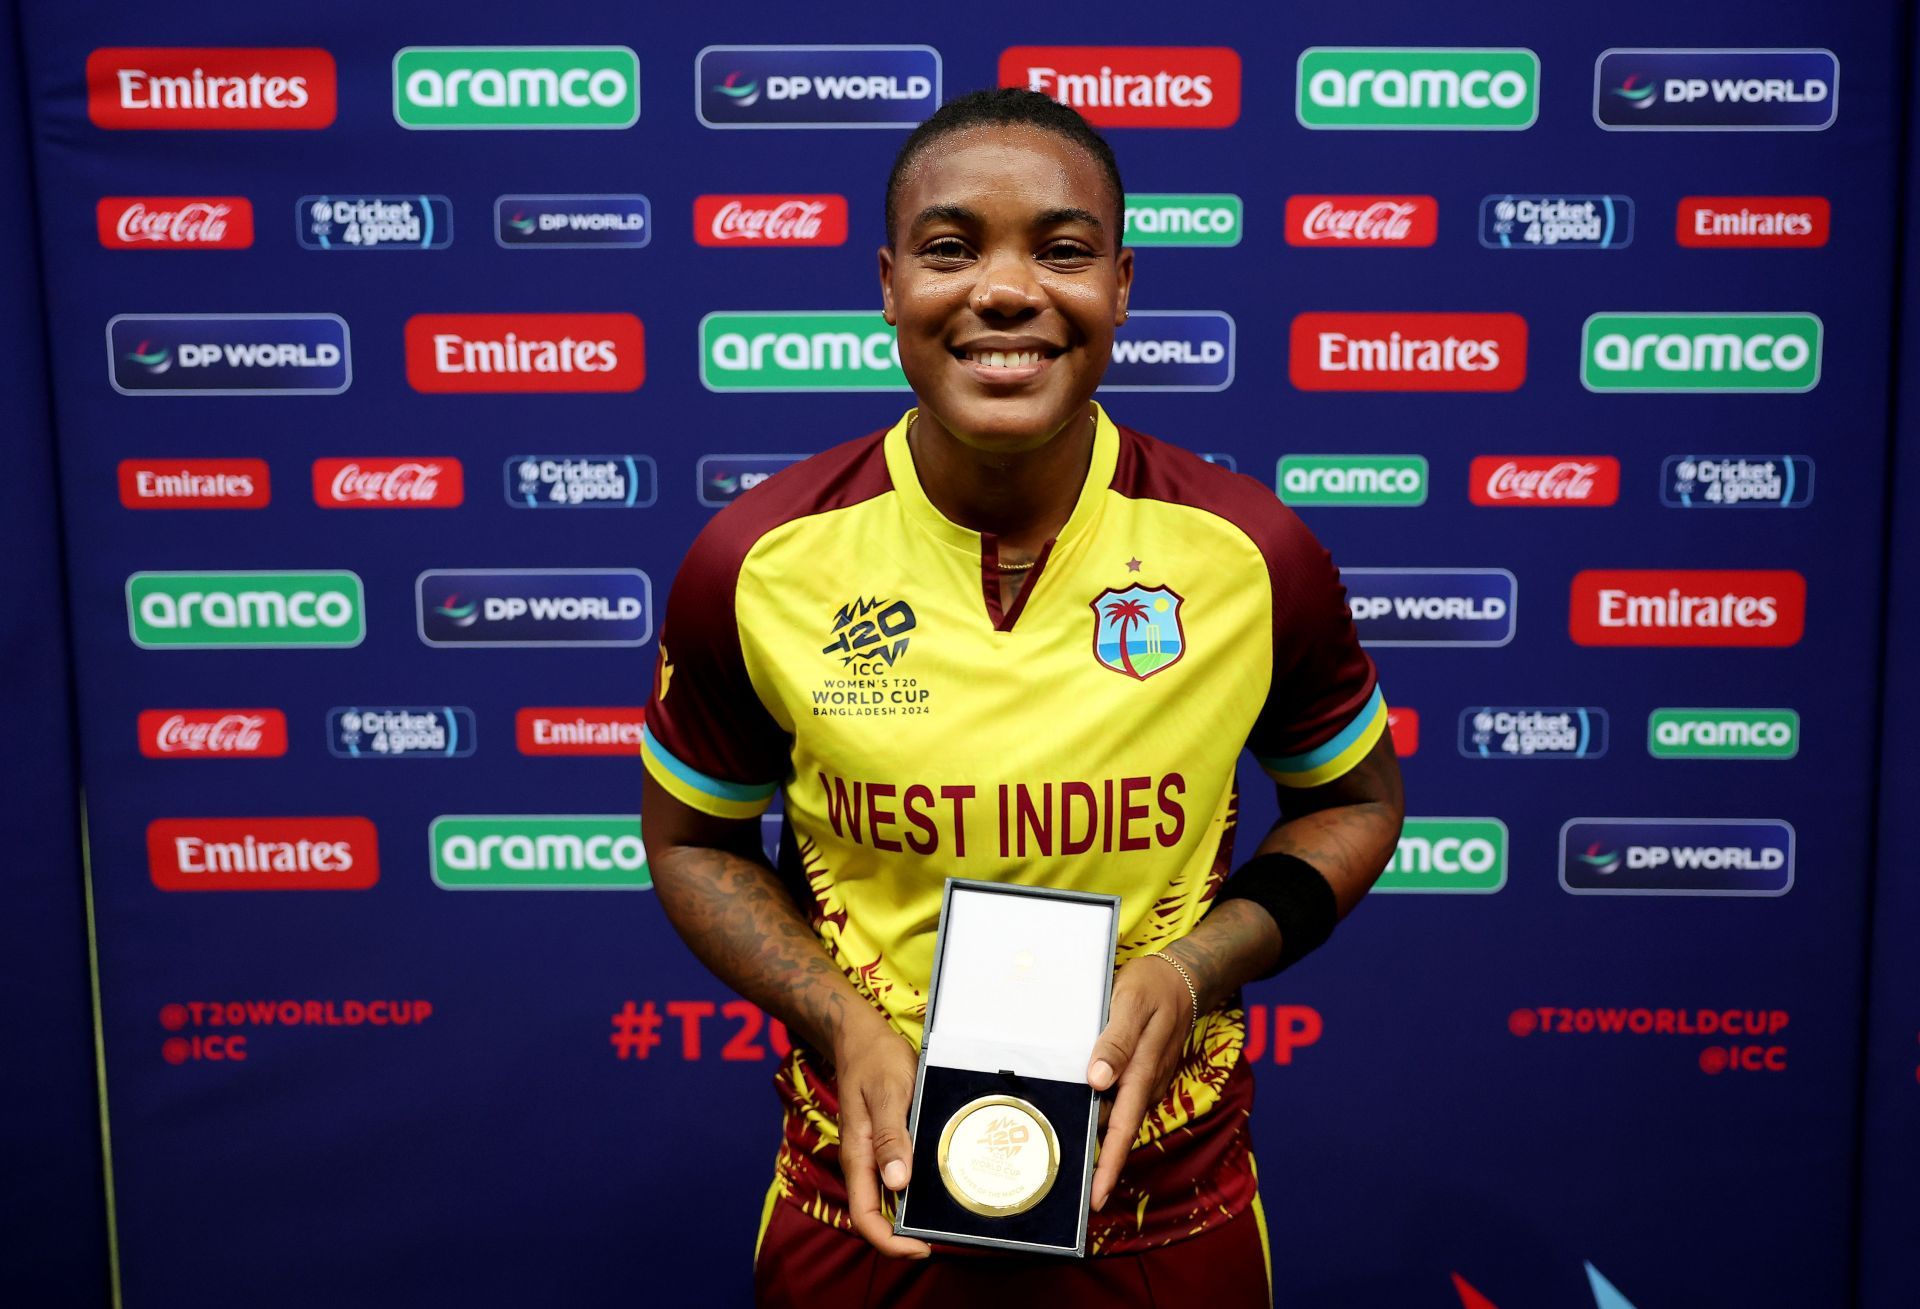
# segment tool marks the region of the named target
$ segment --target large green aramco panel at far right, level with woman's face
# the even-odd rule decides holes
[[[1811,313],[1596,313],[1580,334],[1590,392],[1811,392],[1822,324]]]

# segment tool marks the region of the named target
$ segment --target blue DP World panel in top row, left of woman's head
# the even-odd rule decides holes
[[[707,46],[693,113],[707,127],[918,127],[941,104],[933,46]]]

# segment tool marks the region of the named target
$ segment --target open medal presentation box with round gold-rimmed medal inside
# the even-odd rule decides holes
[[[1085,1255],[1119,896],[947,879],[893,1230]]]

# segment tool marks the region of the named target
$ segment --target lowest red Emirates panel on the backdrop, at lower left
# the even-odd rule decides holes
[[[146,866],[161,891],[365,891],[380,845],[365,818],[156,818]]]

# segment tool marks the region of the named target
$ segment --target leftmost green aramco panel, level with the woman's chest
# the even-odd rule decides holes
[[[367,597],[351,572],[136,572],[127,628],[150,649],[346,647]]]

